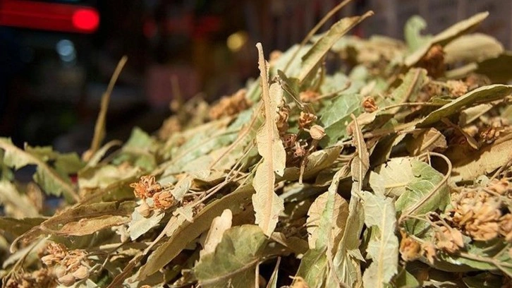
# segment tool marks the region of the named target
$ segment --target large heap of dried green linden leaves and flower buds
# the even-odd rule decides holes
[[[512,287],[512,52],[487,13],[343,36],[371,15],[154,136],[102,145],[107,91],[81,158],[1,138],[4,287]]]

